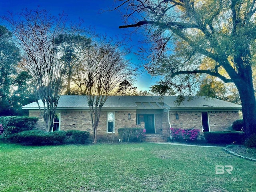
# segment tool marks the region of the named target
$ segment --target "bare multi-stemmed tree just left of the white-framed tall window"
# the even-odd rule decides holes
[[[90,48],[75,73],[76,78],[73,80],[86,95],[90,107],[94,143],[97,142],[100,112],[110,92],[123,80],[132,78],[136,72],[124,58],[126,54],[118,43],[99,42]]]

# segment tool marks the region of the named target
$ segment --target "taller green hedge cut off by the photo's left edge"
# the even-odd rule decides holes
[[[14,134],[22,131],[32,130],[38,121],[36,117],[27,116],[2,116],[0,124],[2,125],[2,136]]]

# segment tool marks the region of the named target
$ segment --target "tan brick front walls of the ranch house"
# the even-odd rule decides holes
[[[58,111],[57,111],[58,112]],[[107,133],[107,114],[115,114],[115,133]],[[130,113],[131,119],[128,120]],[[176,113],[179,119],[176,119]],[[173,128],[195,128],[200,130],[202,135],[201,111],[170,111],[170,123]],[[44,120],[38,111],[30,111],[29,116],[39,117],[36,129],[45,130]],[[170,126],[168,123],[168,112],[154,114],[156,133],[163,134],[164,138],[170,137]],[[208,111],[210,131],[231,130],[232,123],[239,119],[238,111]],[[98,142],[107,142],[114,136],[114,141],[118,141],[118,128],[140,127],[136,125],[136,110],[102,110],[97,128]],[[144,127],[144,124],[142,124]],[[60,112],[60,130],[82,130],[90,132],[92,136],[92,122],[89,111],[67,110]]]

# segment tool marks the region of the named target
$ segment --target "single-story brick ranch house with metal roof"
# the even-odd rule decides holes
[[[110,96],[102,107],[97,140],[104,142],[111,134],[118,140],[117,130],[124,127],[144,127],[146,134],[158,134],[163,140],[170,137],[170,127],[199,129],[200,135],[208,131],[231,130],[242,109],[240,105],[214,98],[186,97],[180,105],[176,104],[176,99],[177,96]],[[36,129],[44,130],[36,102],[22,109],[29,110],[29,116],[39,117]],[[60,97],[52,131],[55,130],[82,130],[92,135],[86,96]]]

